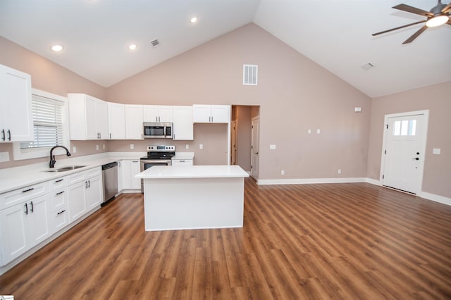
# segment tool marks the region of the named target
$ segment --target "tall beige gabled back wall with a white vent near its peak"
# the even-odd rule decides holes
[[[259,65],[257,87],[242,85],[245,63]],[[109,87],[107,99],[261,106],[260,179],[366,177],[371,99],[254,24]]]

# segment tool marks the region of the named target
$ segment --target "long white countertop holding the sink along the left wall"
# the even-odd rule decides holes
[[[140,159],[145,152],[106,152],[75,158],[56,158],[55,168],[63,168],[68,165],[85,165],[83,168],[66,172],[45,172],[49,169],[49,163],[35,163],[16,168],[0,169],[0,194],[14,189],[20,189],[39,182],[53,180],[58,177],[71,175],[80,171],[97,168],[106,163],[121,161],[122,159]]]

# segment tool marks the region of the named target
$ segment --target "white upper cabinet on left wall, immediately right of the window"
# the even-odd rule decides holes
[[[108,139],[108,104],[87,94],[68,94],[70,139]]]

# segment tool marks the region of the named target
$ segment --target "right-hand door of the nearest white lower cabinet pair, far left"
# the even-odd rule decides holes
[[[49,195],[40,196],[28,201],[28,231],[30,234],[30,248],[39,244],[50,236],[49,224]]]

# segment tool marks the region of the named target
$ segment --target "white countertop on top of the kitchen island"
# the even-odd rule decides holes
[[[226,178],[249,177],[239,165],[155,165],[135,178]]]

